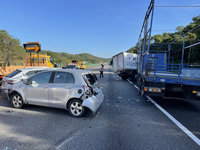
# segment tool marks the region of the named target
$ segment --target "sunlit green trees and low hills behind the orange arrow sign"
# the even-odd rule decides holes
[[[103,63],[109,62],[109,58],[96,57],[88,53],[81,54],[68,54],[65,52],[54,52],[51,50],[42,50],[43,54],[51,56],[53,63],[67,64],[72,59],[78,59],[79,61],[87,61],[88,63]],[[0,63],[4,63],[6,60],[11,65],[23,64],[23,57],[25,50],[21,46],[20,40],[11,36],[7,31],[0,30]]]

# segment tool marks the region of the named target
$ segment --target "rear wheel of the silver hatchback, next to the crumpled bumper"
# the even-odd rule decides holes
[[[80,118],[85,114],[85,107],[82,107],[82,101],[73,99],[69,102],[68,110],[71,116]]]

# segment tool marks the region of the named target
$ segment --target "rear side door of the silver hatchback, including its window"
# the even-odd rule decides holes
[[[49,106],[65,109],[67,100],[74,94],[74,86],[75,78],[72,73],[55,72],[49,86]]]

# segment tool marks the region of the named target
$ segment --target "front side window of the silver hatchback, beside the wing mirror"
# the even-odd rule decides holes
[[[43,72],[38,75],[35,75],[32,78],[32,83],[36,84],[46,84],[49,83],[50,77],[52,72]]]

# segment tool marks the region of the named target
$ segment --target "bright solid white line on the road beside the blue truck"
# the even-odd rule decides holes
[[[133,84],[136,89],[139,89],[135,84]],[[189,131],[185,126],[183,126],[178,120],[176,120],[171,114],[169,114],[164,108],[162,108],[158,103],[156,103],[152,98],[146,96],[147,99],[153,103],[162,113],[164,113],[174,124],[177,125],[187,136],[189,136],[197,145],[200,146],[200,139],[197,138],[191,131]]]

